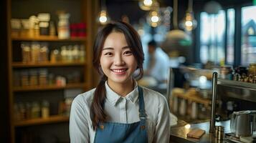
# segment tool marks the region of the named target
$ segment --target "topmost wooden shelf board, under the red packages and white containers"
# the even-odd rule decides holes
[[[11,36],[12,41],[86,41],[86,37],[59,39],[57,36]]]

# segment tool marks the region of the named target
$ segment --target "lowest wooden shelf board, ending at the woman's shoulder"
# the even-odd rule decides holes
[[[38,118],[38,119],[27,119],[24,121],[14,122],[15,127],[24,127],[24,126],[31,126],[37,124],[51,124],[57,122],[68,122],[70,117],[65,117],[61,115],[54,115],[48,118]]]

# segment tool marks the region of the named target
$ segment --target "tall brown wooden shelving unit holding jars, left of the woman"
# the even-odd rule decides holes
[[[98,0],[67,0],[63,4],[59,4],[60,1],[36,1],[32,0],[29,3],[24,3],[24,1],[12,1],[7,0],[7,25],[8,25],[8,71],[9,71],[9,119],[10,119],[10,137],[11,143],[22,142],[21,139],[24,135],[21,132],[28,131],[30,128],[37,128],[38,124],[56,124],[59,122],[68,122],[69,117],[64,117],[57,114],[58,102],[65,99],[67,92],[74,91],[75,89],[82,89],[82,91],[87,91],[93,87],[93,65],[91,63],[93,55],[93,36],[95,36],[98,29],[98,25],[95,21],[95,16],[98,14]],[[54,8],[54,9],[52,9]],[[26,11],[24,11],[26,9]],[[54,21],[55,26],[57,25],[57,15],[56,11],[62,10],[70,13],[70,24],[72,23],[85,23],[86,24],[86,35],[84,37],[70,37],[69,39],[59,39],[58,36],[14,36],[11,34],[11,19],[29,19],[29,16],[41,13],[42,11],[51,14],[51,21]],[[57,27],[55,27],[57,30]],[[20,34],[22,35],[22,34]],[[85,50],[85,62],[72,61],[72,62],[40,62],[40,63],[23,63],[22,62],[22,50],[20,45],[22,42],[32,43],[34,41],[38,43],[47,42],[49,51],[53,49],[58,49],[61,46],[66,45],[82,45]],[[48,55],[49,56],[49,55]],[[71,67],[70,67],[71,66]],[[28,86],[28,87],[14,87],[14,73],[19,71],[30,69],[37,70],[47,69],[47,72],[54,74],[54,76],[65,77],[65,74],[72,74],[72,71],[78,71],[80,74],[80,82],[74,84],[66,84],[63,87],[57,85],[47,85],[47,86]],[[67,71],[65,71],[67,69]],[[58,71],[59,70],[59,71]],[[63,75],[62,75],[63,74]],[[70,90],[67,90],[70,89]],[[72,89],[72,90],[71,90]],[[45,94],[44,94],[45,92]],[[33,95],[33,96],[32,96]],[[34,96],[36,95],[36,96]],[[55,96],[56,95],[56,96]],[[24,121],[16,122],[14,120],[14,105],[17,102],[42,102],[42,99],[48,98],[49,108],[52,110],[49,118],[46,119],[28,119]],[[27,101],[26,101],[27,99]],[[19,101],[24,100],[24,101]],[[67,124],[66,124],[67,125]],[[35,126],[35,127],[34,127]],[[48,127],[48,126],[47,126]],[[67,130],[68,127],[63,127],[65,129],[65,137],[67,139],[65,142],[69,142]],[[41,131],[40,128],[37,129],[38,132]],[[43,133],[42,133],[43,134]],[[29,134],[29,136],[31,136]],[[54,132],[54,137],[59,137],[62,139],[63,134],[59,132]],[[65,138],[64,137],[64,138]],[[31,141],[34,142],[34,141]]]

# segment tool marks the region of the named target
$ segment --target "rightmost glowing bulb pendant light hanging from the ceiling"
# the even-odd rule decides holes
[[[194,12],[193,12],[193,0],[189,0],[188,9],[186,10],[186,15],[184,19],[181,21],[181,29],[186,31],[191,31],[195,29],[197,26],[197,21],[194,19]]]

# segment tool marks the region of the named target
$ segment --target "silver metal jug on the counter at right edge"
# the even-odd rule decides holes
[[[235,137],[250,137],[255,131],[256,110],[233,112],[230,129]]]

